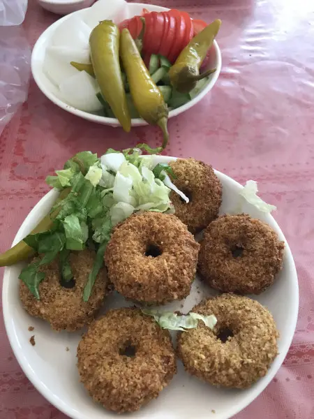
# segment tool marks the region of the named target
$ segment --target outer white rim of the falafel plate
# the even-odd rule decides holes
[[[176,160],[177,157],[172,156],[158,156],[158,158],[161,159],[161,161],[171,161]],[[244,186],[239,184],[236,180],[232,179],[232,177],[225,175],[222,172],[219,172],[218,170],[215,170],[216,175],[220,178],[225,178],[227,182],[232,184],[232,186],[236,189],[243,189]],[[13,240],[12,246],[14,246],[18,241],[22,239],[22,236],[24,235],[24,230],[27,230],[27,224],[29,223],[29,220],[33,218],[34,214],[38,212],[38,208],[42,205],[43,201],[49,199],[52,195],[56,195],[57,197],[57,190],[52,189],[49,192],[47,192],[43,198],[41,198],[38,203],[33,207],[33,209],[29,212],[27,217],[22,222],[19,230],[17,231],[17,234],[15,235],[15,238]],[[276,369],[273,371],[268,371],[267,376],[264,377],[264,381],[258,385],[259,381],[257,381],[257,387],[253,389],[252,392],[248,393],[245,397],[241,398],[240,401],[237,404],[234,404],[232,407],[232,411],[227,412],[227,416],[224,416],[224,419],[231,418],[232,416],[239,413],[241,410],[245,409],[249,404],[253,402],[253,400],[259,396],[264,389],[269,385],[272,378],[277,374],[278,370],[281,368],[281,365],[283,364],[283,361],[285,360],[285,357],[287,355],[287,352],[290,349],[292,339],[294,336],[295,328],[297,326],[297,317],[299,312],[299,284],[298,284],[298,277],[297,277],[297,270],[294,263],[294,258],[292,256],[292,252],[290,250],[289,244],[287,243],[287,240],[285,239],[285,236],[283,235],[283,232],[281,228],[278,226],[278,223],[274,219],[274,217],[271,214],[267,214],[270,219],[271,223],[274,225],[274,229],[276,230],[276,233],[280,236],[281,240],[284,240],[285,242],[285,251],[287,253],[287,263],[290,263],[290,270],[293,272],[294,277],[294,300],[293,304],[290,307],[291,311],[293,311],[293,323],[292,328],[290,328],[290,336],[285,336],[287,343],[285,344],[285,348],[283,351],[281,351],[277,357],[275,358],[274,362],[276,362]],[[39,221],[39,220],[38,220]],[[27,234],[27,233],[26,233]],[[15,355],[15,358],[17,359],[17,362],[19,363],[20,367],[22,368],[24,374],[27,376],[29,381],[34,385],[36,390],[47,399],[48,402],[50,402],[53,406],[55,406],[59,411],[66,414],[70,418],[73,419],[86,419],[86,416],[84,416],[83,413],[80,412],[73,412],[73,409],[71,407],[68,407],[68,404],[63,402],[62,399],[59,399],[59,397],[55,396],[50,390],[47,389],[43,381],[40,381],[40,379],[37,377],[34,370],[31,368],[31,365],[27,362],[27,357],[24,356],[24,353],[22,351],[22,348],[19,345],[19,339],[17,337],[17,333],[15,332],[15,328],[12,328],[10,325],[10,321],[12,320],[9,316],[9,304],[8,304],[8,284],[10,279],[10,269],[11,267],[6,267],[3,274],[3,286],[2,286],[2,302],[3,302],[3,319],[4,319],[4,325],[6,328],[6,335],[8,336],[8,340],[10,342],[10,346],[13,350],[13,353]],[[110,413],[110,411],[108,411]],[[105,417],[105,416],[104,416]],[[134,419],[136,419],[136,412],[132,414]]]

